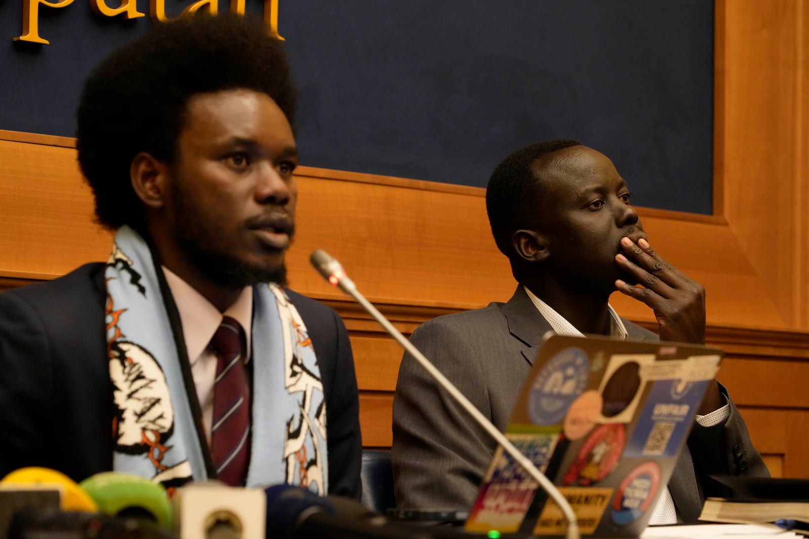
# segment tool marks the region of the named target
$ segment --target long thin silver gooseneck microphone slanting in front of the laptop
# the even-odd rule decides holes
[[[561,508],[561,512],[565,515],[565,518],[568,522],[567,527],[567,537],[568,539],[578,539],[578,521],[576,520],[576,515],[573,512],[573,509],[570,507],[570,503],[567,503],[565,496],[561,495],[561,492],[557,489],[556,486],[553,485],[553,482],[550,482],[548,478],[540,472],[536,468],[536,466],[532,463],[532,461],[528,460],[527,457],[523,455],[523,453],[519,452],[519,449],[515,448],[514,444],[503,436],[502,432],[495,427],[485,415],[481,414],[472,402],[469,402],[469,399],[464,396],[452,384],[447,377],[445,377],[438,368],[435,368],[434,364],[430,363],[421,352],[417,350],[416,347],[413,346],[412,343],[408,339],[404,338],[404,335],[400,333],[396,327],[393,326],[391,322],[385,318],[379,310],[376,309],[374,305],[371,305],[371,302],[366,300],[361,293],[359,293],[357,286],[354,284],[354,281],[349,279],[349,276],[345,274],[345,270],[341,266],[341,263],[337,262],[336,259],[333,259],[331,255],[328,255],[326,251],[322,249],[318,249],[314,251],[310,258],[309,258],[311,265],[315,267],[315,269],[320,273],[321,276],[324,276],[329,283],[337,286],[340,288],[344,293],[348,294],[351,297],[354,297],[356,301],[368,312],[371,314],[372,317],[376,319],[379,324],[385,328],[385,331],[388,331],[398,343],[404,347],[404,349],[409,352],[411,356],[416,358],[419,364],[423,368],[426,368],[427,372],[430,373],[438,384],[440,384],[444,390],[447,391],[451,395],[452,398],[455,398],[455,401],[460,404],[468,412],[469,415],[472,415],[472,418],[477,421],[477,423],[485,429],[486,432],[489,432],[494,440],[497,440],[498,444],[502,446],[502,448],[514,457],[515,461],[519,463],[519,465],[523,466],[523,470],[526,470],[532,478],[536,480],[542,486],[545,492],[547,492],[550,497],[553,499],[554,502]]]

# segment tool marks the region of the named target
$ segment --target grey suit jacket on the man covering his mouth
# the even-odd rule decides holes
[[[658,339],[622,320],[630,339]],[[519,286],[506,304],[434,318],[410,339],[502,430],[546,331],[553,329]],[[471,508],[495,447],[491,436],[405,354],[393,401],[397,506]],[[686,522],[697,520],[705,495],[710,494],[708,474],[767,474],[732,402],[723,425],[695,425],[688,448],[669,482],[671,497]]]

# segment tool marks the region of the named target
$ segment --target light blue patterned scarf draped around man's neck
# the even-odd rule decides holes
[[[125,226],[104,273],[117,408],[113,469],[168,488],[214,478],[172,294],[146,241]],[[253,286],[248,486],[328,492],[326,402],[306,326],[277,284]]]

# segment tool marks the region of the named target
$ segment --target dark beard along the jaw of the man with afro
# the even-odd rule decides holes
[[[175,193],[175,227],[177,243],[195,267],[212,282],[231,289],[256,283],[277,283],[286,286],[286,265],[265,267],[245,263],[220,247],[218,220],[195,204],[180,181],[172,179]],[[210,217],[210,218],[209,218]],[[290,240],[292,234],[290,234]],[[282,250],[277,250],[282,252]]]

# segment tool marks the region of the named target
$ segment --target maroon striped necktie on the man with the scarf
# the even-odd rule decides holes
[[[244,485],[250,461],[250,392],[244,373],[244,330],[226,316],[210,341],[216,352],[210,448],[222,482]]]

